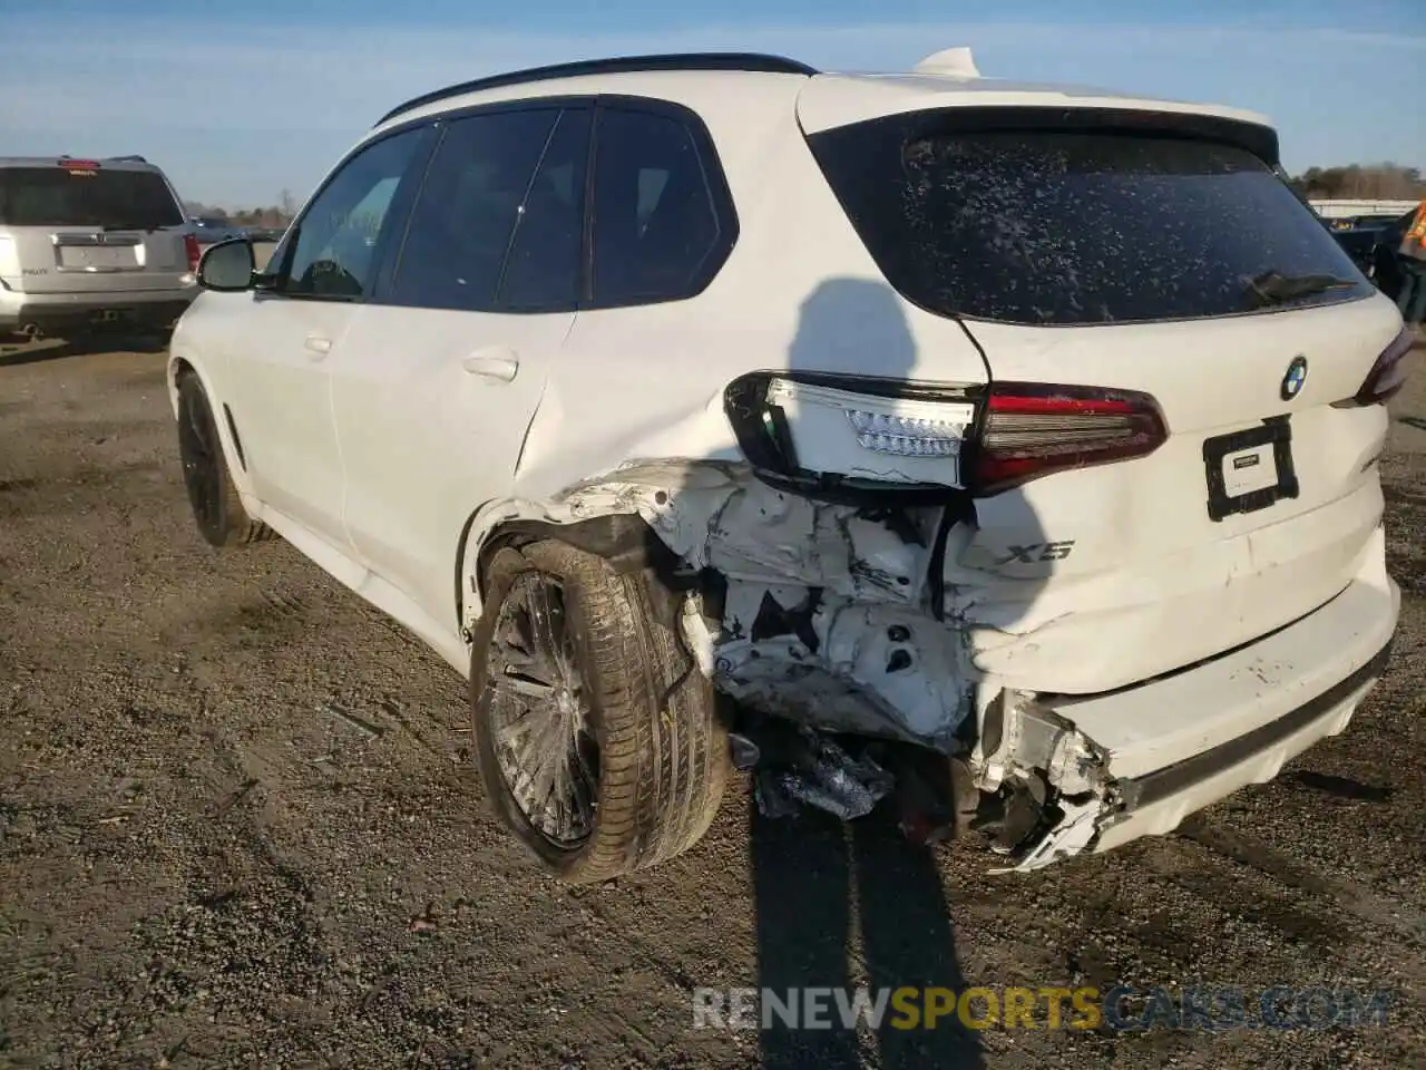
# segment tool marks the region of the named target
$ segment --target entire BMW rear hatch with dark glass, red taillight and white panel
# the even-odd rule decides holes
[[[954,107],[809,138],[888,281],[992,385],[945,612],[980,669],[1094,693],[1339,593],[1380,522],[1400,318],[1236,118]]]

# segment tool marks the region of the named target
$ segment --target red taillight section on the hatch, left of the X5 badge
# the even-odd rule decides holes
[[[1148,394],[1000,382],[985,398],[970,485],[998,494],[1041,475],[1147,457],[1168,438]]]

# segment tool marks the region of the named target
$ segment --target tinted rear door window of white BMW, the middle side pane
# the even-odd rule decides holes
[[[556,108],[451,123],[426,171],[396,265],[392,301],[489,311]]]

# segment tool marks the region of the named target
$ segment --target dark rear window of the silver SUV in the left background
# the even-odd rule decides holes
[[[153,230],[184,221],[157,171],[0,168],[0,224]]]

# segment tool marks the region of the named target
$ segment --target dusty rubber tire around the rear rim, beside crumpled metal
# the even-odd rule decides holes
[[[549,823],[549,807],[532,812],[528,798],[523,806],[516,798],[512,779],[520,786],[532,776],[512,776],[511,746],[502,743],[509,726],[498,718],[502,675],[511,669],[502,663],[506,638],[496,632],[515,619],[508,599],[536,582],[560,592],[572,675],[597,745],[592,829],[578,842],[552,837],[538,826]],[[697,843],[723,798],[727,733],[709,682],[676,633],[676,599],[652,574],[620,575],[603,558],[553,541],[502,549],[486,591],[472,643],[471,699],[476,760],[496,815],[549,872],[572,883],[609,880]],[[553,708],[546,703],[532,716],[540,709]],[[546,736],[563,745],[562,732],[556,726]],[[576,765],[588,769],[590,762],[580,756]]]

